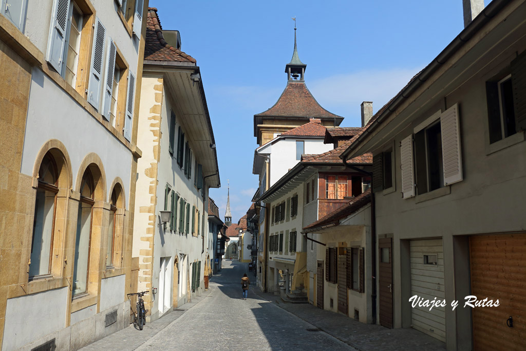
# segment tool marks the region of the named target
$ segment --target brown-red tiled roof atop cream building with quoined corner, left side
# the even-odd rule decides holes
[[[163,37],[157,8],[148,7],[144,59],[148,61],[177,61],[196,63],[196,59],[168,44]]]

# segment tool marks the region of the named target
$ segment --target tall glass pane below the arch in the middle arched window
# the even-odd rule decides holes
[[[73,270],[73,296],[87,292],[89,236],[92,227],[92,206],[78,203],[77,236],[75,240],[75,266]]]

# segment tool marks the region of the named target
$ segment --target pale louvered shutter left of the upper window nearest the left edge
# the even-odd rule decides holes
[[[69,14],[69,0],[55,0],[53,16],[49,30],[49,46],[47,48],[47,61],[62,74],[64,64],[64,45]]]

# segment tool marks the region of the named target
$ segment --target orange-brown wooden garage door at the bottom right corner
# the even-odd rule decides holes
[[[526,349],[526,234],[472,236],[469,243],[471,294],[499,299],[498,307],[472,309],[473,349]]]

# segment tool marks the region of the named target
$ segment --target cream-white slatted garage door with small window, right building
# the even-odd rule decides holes
[[[411,240],[411,296],[444,298],[442,239]],[[446,342],[446,308],[411,308],[414,329]]]

